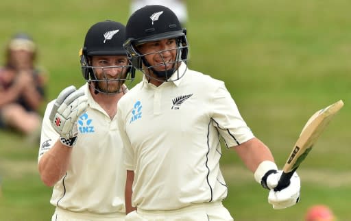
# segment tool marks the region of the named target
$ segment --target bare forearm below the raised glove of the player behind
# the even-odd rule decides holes
[[[59,181],[69,166],[72,148],[64,146],[59,140],[40,159],[38,169],[40,178],[47,186]]]

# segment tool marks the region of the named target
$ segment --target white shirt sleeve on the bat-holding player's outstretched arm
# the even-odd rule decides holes
[[[219,83],[210,102],[213,126],[217,127],[227,148],[254,138],[254,134],[241,117],[237,104],[223,81]]]

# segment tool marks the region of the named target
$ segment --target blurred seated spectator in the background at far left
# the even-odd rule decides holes
[[[16,34],[6,45],[0,68],[0,129],[32,136],[40,133],[38,114],[44,101],[45,72],[35,66],[36,44],[27,34]]]

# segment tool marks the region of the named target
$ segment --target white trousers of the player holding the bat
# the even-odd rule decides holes
[[[171,211],[145,211],[137,209],[128,213],[125,221],[233,221],[221,202],[199,203]]]

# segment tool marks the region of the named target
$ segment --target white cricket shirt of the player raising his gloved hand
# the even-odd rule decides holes
[[[88,109],[78,118],[79,133],[71,164],[66,175],[54,185],[50,203],[69,211],[125,213],[126,170],[117,117],[110,120],[91,96],[88,83],[79,90],[88,96]],[[38,161],[59,138],[49,120],[53,103],[45,110]]]

